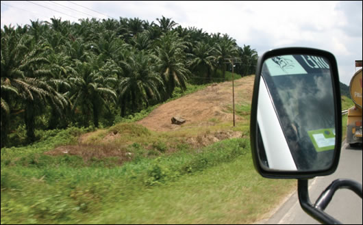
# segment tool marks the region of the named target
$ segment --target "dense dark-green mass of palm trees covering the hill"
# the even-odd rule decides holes
[[[227,34],[184,28],[171,18],[79,23],[51,18],[1,29],[1,147],[25,127],[35,129],[112,124],[166,101],[175,88],[225,78],[227,59],[240,75],[255,72],[257,52]],[[218,73],[219,72],[219,73]]]

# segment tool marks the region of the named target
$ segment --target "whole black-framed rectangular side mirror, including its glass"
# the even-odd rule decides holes
[[[262,176],[333,173],[342,141],[334,55],[308,48],[264,53],[255,74],[250,129],[253,162]]]

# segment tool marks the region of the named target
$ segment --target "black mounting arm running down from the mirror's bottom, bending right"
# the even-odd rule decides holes
[[[308,215],[314,217],[315,220],[318,220],[318,222],[321,222],[322,224],[342,224],[323,210],[312,205],[309,198],[308,179],[299,179],[297,181],[297,192],[301,208],[305,213],[308,213]]]

